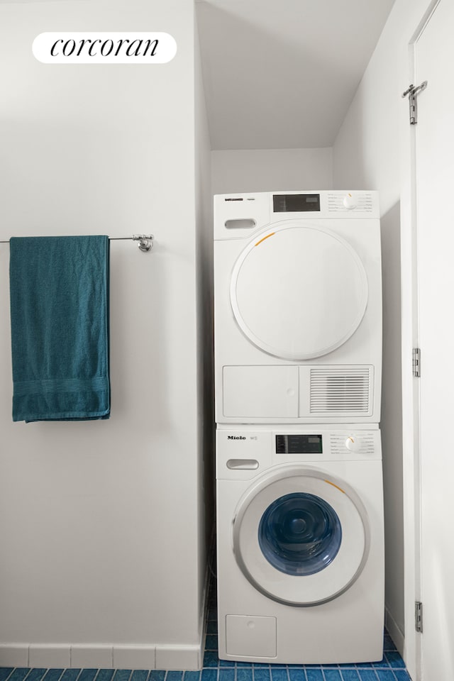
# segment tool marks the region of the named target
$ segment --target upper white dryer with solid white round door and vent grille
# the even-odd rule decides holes
[[[379,423],[377,192],[214,197],[216,423]]]

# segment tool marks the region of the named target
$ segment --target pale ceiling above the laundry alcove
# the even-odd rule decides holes
[[[211,148],[331,147],[394,0],[196,0]]]

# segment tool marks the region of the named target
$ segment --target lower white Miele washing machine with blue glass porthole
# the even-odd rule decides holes
[[[381,660],[377,426],[221,425],[216,448],[219,657]]]

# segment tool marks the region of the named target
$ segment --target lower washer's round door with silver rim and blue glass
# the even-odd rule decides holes
[[[262,594],[293,606],[345,592],[362,572],[369,545],[358,494],[310,467],[276,468],[248,489],[233,521],[243,575]]]

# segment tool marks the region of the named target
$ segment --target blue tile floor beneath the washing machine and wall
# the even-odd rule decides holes
[[[211,589],[201,671],[0,668],[0,681],[410,681],[404,661],[384,632],[380,662],[356,665],[263,665],[218,659],[216,595]]]

